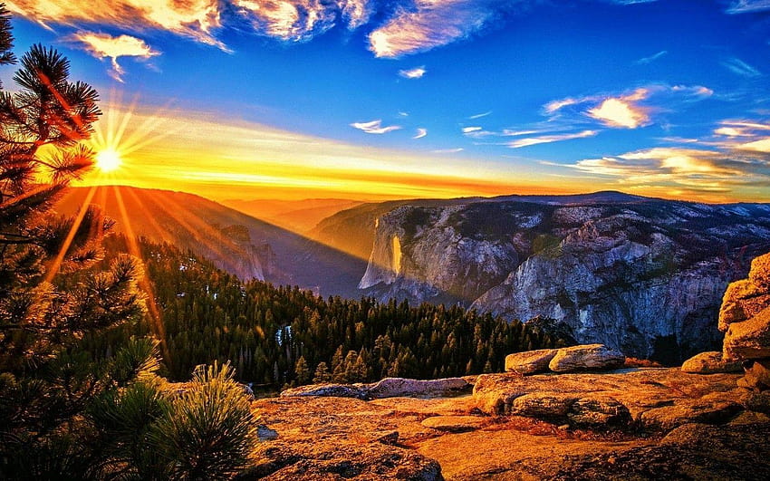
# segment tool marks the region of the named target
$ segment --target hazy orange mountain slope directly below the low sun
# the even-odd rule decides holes
[[[77,212],[89,190],[68,189],[56,210],[68,215]],[[96,188],[91,204],[101,206],[115,219],[121,232],[190,249],[244,280],[255,278],[299,285],[323,295],[356,297],[356,285],[366,269],[366,262],[359,258],[192,194],[101,187]]]

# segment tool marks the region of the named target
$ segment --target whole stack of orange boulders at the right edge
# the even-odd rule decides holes
[[[730,284],[719,312],[723,357],[743,361],[740,385],[770,389],[770,254],[756,257],[748,279]]]

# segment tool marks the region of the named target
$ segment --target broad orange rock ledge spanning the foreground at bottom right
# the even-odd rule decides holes
[[[740,377],[643,368],[288,390],[254,401],[262,441],[241,477],[767,479],[770,393]]]

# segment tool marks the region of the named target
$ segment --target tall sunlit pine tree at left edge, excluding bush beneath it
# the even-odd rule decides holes
[[[12,63],[5,9],[0,14],[0,63]],[[101,259],[101,237],[111,227],[95,208],[82,218],[58,218],[50,208],[73,179],[93,164],[79,142],[101,114],[98,94],[70,82],[69,62],[34,45],[21,58],[14,93],[0,91],[0,367],[39,364],[93,328],[141,313],[139,265],[122,257],[111,271],[74,289],[52,284]],[[45,148],[45,157],[42,150]],[[24,362],[19,362],[24,361]],[[15,362],[15,365],[13,363]]]

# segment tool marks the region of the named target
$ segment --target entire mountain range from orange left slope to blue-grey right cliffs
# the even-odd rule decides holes
[[[125,232],[108,189],[93,201]],[[727,284],[770,248],[766,204],[619,192],[403,200],[344,208],[301,235],[203,197],[120,191],[136,235],[189,248],[242,279],[539,319],[575,342],[667,364],[719,342],[713,321]],[[85,194],[72,190],[62,211]],[[347,207],[308,202],[324,213]]]

